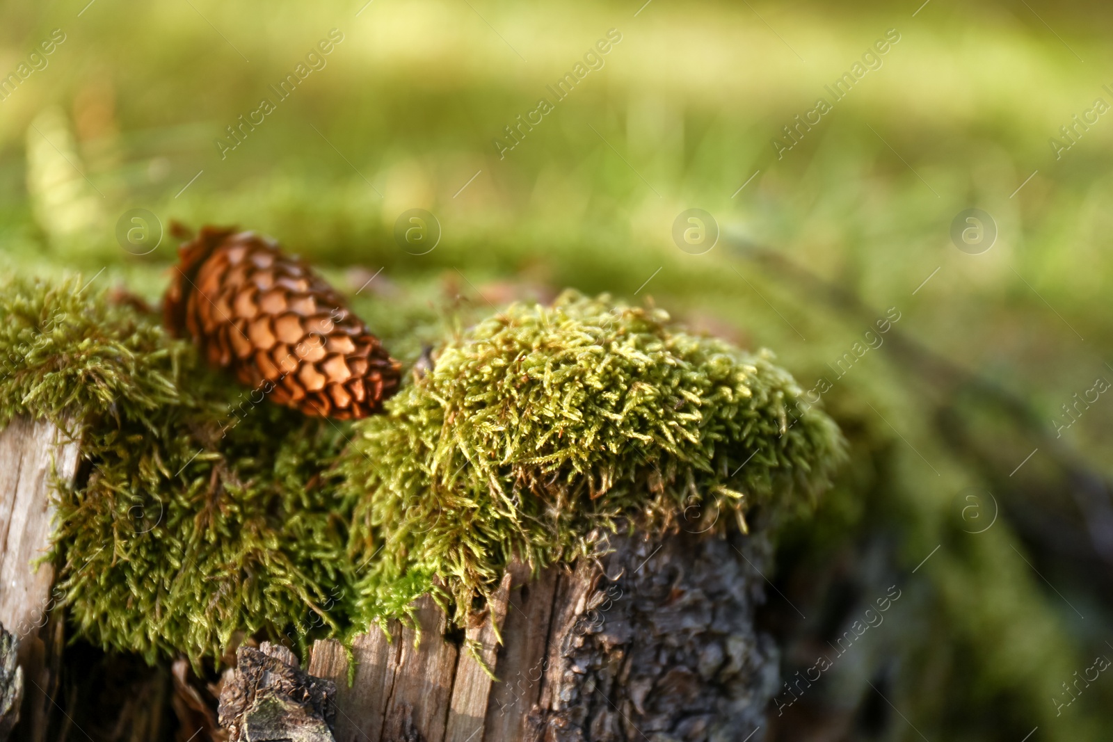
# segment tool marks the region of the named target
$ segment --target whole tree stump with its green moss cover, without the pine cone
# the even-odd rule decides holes
[[[211,673],[239,645],[230,739],[760,739],[770,524],[843,455],[771,354],[570,293],[447,338],[386,414],[342,427],[79,294],[0,291],[9,431],[79,419],[80,452],[48,423],[19,444],[66,462],[49,541],[67,625],[177,660],[191,706],[181,657]],[[49,508],[40,479],[37,498],[0,497]],[[26,570],[33,555],[11,550]]]

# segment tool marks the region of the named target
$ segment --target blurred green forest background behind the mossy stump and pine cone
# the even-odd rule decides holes
[[[853,461],[780,534],[781,682],[834,666],[778,695],[766,739],[1110,739],[1113,9],[642,1],[4,3],[0,75],[32,71],[0,101],[0,274],[155,301],[171,219],[236,224],[358,291],[407,362],[569,286],[769,347],[805,389],[829,382]],[[540,98],[554,110],[500,157]],[[442,230],[423,255],[394,239],[413,208]],[[689,208],[720,229],[698,255],[672,239]],[[969,208],[995,224],[985,251],[952,238]],[[160,240],[117,238],[131,209]]]

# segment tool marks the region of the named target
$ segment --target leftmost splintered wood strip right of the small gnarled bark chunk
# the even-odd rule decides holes
[[[397,636],[401,627],[392,624]],[[355,677],[348,685],[348,657],[336,640],[318,641],[309,657],[311,675],[336,683],[336,742],[380,742],[386,702],[394,689],[401,646],[392,643],[377,626],[361,634],[352,644]]]

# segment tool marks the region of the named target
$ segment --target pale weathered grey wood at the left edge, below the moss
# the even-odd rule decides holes
[[[72,482],[78,458],[78,444],[50,423],[17,417],[0,432],[0,623],[20,640],[19,740],[46,739],[55,705],[62,623],[50,616],[53,568],[33,563],[49,548],[53,477]]]

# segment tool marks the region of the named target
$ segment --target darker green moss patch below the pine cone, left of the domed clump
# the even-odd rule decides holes
[[[78,632],[197,661],[236,631],[338,629],[347,516],[319,473],[341,429],[252,405],[156,318],[79,288],[0,289],[0,416],[81,441],[87,477],[59,491],[55,536]]]

